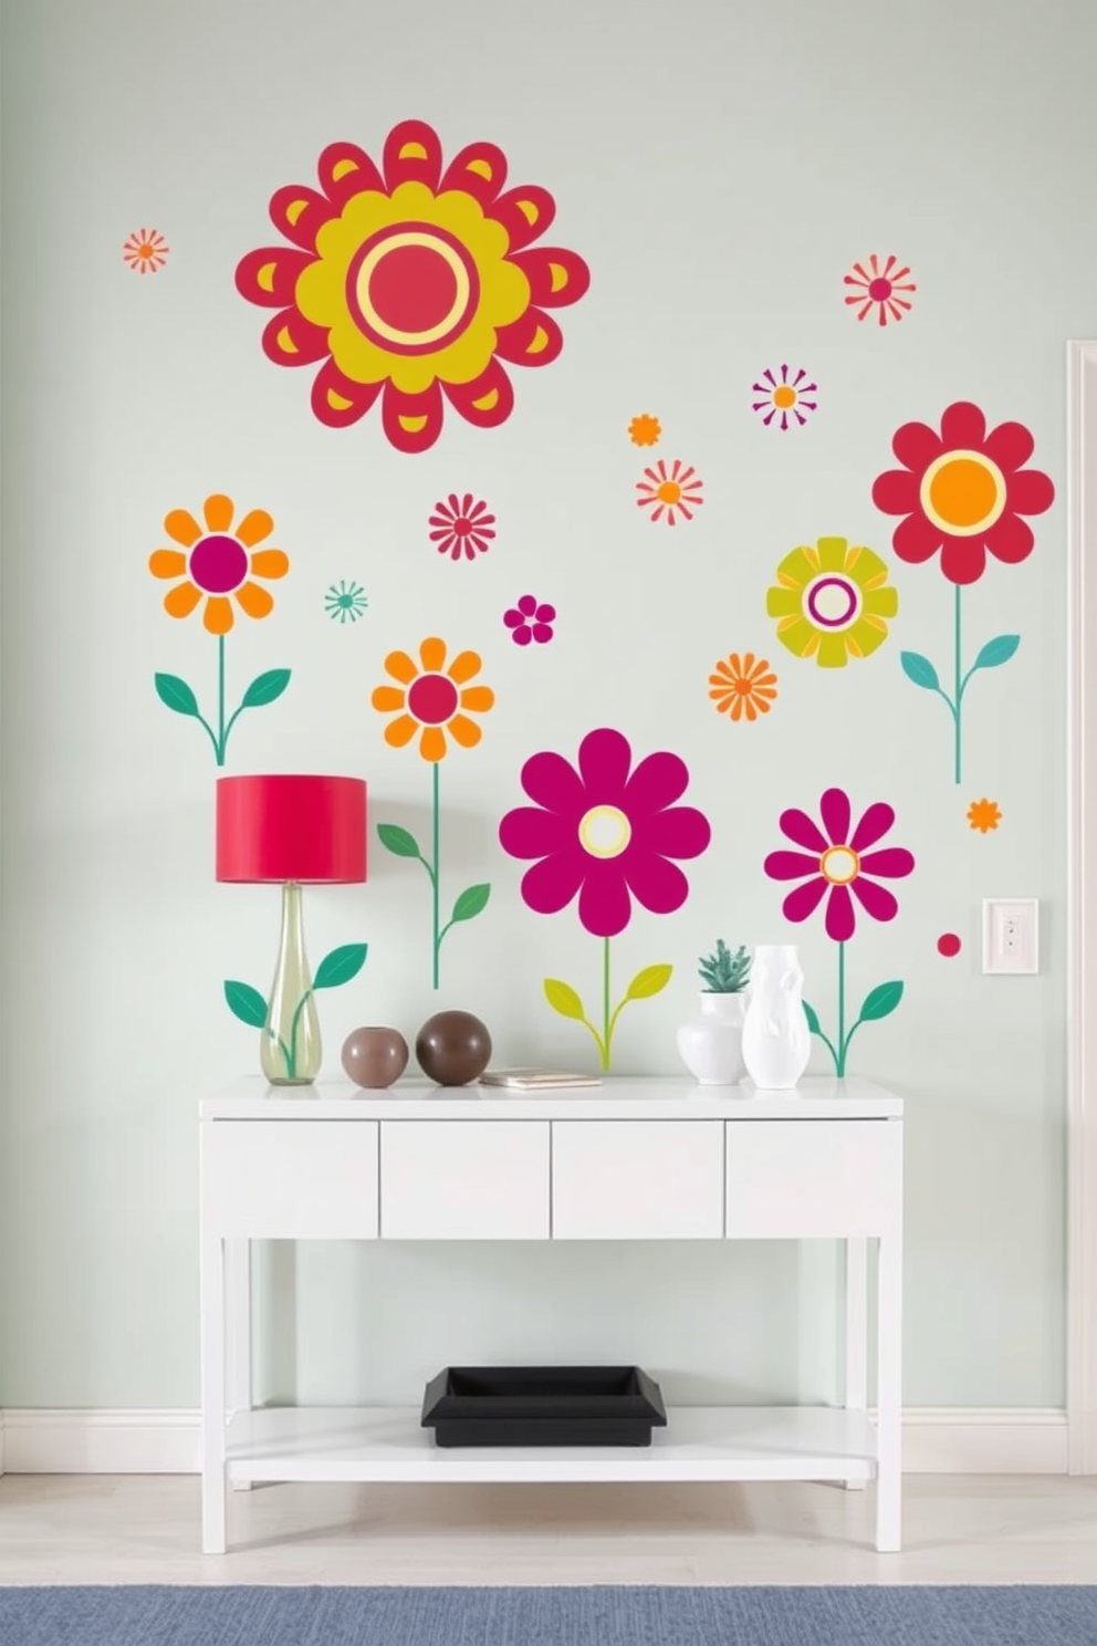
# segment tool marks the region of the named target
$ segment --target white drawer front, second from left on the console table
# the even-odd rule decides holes
[[[548,1121],[382,1121],[383,1239],[548,1239]]]

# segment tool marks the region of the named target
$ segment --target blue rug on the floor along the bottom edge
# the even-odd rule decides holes
[[[1095,1646],[1097,1587],[0,1588],[0,1646]]]

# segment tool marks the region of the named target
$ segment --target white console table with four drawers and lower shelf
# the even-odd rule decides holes
[[[903,1101],[671,1078],[515,1095],[242,1080],[201,1103],[202,1549],[252,1481],[875,1480],[900,1547]],[[650,1448],[437,1448],[410,1407],[252,1407],[252,1239],[840,1239],[845,1404],[671,1407]],[[867,1414],[868,1241],[877,1420]],[[658,1368],[650,1368],[658,1376]]]

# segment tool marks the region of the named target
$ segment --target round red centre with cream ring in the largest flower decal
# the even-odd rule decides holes
[[[434,224],[393,224],[359,247],[347,270],[357,324],[393,354],[428,354],[465,329],[480,300],[467,247]]]

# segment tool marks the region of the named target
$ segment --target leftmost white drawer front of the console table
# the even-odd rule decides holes
[[[202,1203],[227,1238],[377,1239],[377,1121],[214,1121]]]

